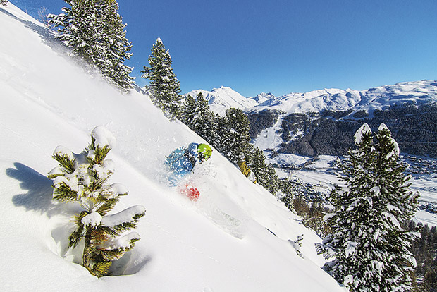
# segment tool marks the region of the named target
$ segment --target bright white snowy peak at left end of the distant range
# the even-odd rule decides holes
[[[184,96],[191,95],[192,97],[196,97],[199,92],[202,92],[202,95],[207,99],[210,109],[221,116],[224,116],[226,109],[230,107],[245,111],[259,104],[257,100],[250,97],[243,97],[232,88],[225,86],[214,88],[211,91],[193,90]]]

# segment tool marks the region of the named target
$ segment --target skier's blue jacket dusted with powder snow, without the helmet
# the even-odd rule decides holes
[[[168,155],[165,164],[170,170],[168,181],[171,185],[176,185],[180,179],[190,174],[194,169],[197,160],[199,160],[197,146],[199,144],[190,143],[188,147],[179,147]]]

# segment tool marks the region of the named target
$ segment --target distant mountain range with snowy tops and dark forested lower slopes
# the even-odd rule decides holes
[[[437,81],[421,80],[370,88],[324,89],[276,97],[261,93],[242,97],[230,87],[207,92],[211,109],[223,114],[228,107],[245,111],[251,138],[262,150],[343,155],[362,123],[380,123],[392,130],[402,152],[437,157]]]

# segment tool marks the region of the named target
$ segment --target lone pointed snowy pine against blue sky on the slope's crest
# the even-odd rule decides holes
[[[180,83],[172,63],[170,53],[158,37],[149,56],[149,67],[144,66],[141,77],[149,80],[148,92],[156,107],[171,118],[180,118]]]

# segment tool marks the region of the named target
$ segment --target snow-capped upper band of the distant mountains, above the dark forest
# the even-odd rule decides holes
[[[292,92],[276,97],[260,93],[256,97],[243,97],[230,87],[211,91],[193,90],[185,95],[196,96],[199,92],[209,101],[211,110],[223,115],[229,107],[248,113],[280,111],[283,114],[320,113],[321,111],[367,111],[384,109],[395,104],[427,104],[437,102],[437,81],[421,80],[370,88],[369,90],[340,90],[336,88],[310,92]]]

